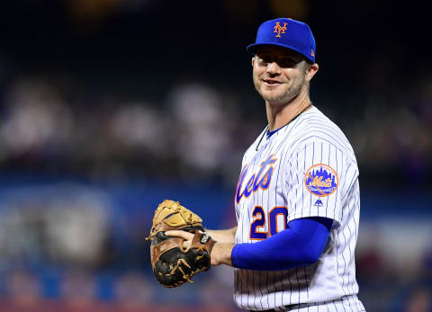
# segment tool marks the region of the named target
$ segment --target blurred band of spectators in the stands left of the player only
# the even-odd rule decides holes
[[[229,94],[202,83],[176,85],[159,103],[111,94],[94,99],[67,86],[31,77],[3,94],[0,164],[6,170],[232,183],[243,149],[261,126],[240,120]]]

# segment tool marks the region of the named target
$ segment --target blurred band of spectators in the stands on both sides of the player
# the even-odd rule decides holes
[[[394,88],[392,97],[369,88],[355,112],[320,101],[320,94],[314,102],[347,134],[366,183],[373,175],[370,181],[384,176],[394,183],[428,184],[432,81]],[[155,101],[127,100],[109,90],[96,96],[71,79],[35,76],[7,85],[0,120],[4,170],[145,174],[227,185],[235,185],[244,151],[266,126],[257,97],[245,99],[203,81],[173,85]]]

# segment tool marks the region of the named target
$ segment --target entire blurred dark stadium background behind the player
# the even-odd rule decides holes
[[[360,298],[432,310],[427,10],[14,0],[0,4],[1,311],[238,311],[229,268],[160,287],[145,238],[164,199],[235,224],[241,157],[266,125],[246,46],[277,16],[311,25],[312,101],[356,151]]]

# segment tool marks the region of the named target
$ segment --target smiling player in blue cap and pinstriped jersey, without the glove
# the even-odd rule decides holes
[[[209,230],[211,265],[234,270],[234,299],[253,311],[365,311],[357,299],[360,213],[356,156],[309,96],[315,40],[304,22],[264,22],[253,79],[268,125],[243,157],[238,226]],[[170,236],[192,239],[183,231]]]

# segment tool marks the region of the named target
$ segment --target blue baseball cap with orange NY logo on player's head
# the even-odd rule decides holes
[[[305,22],[291,18],[276,18],[263,22],[258,28],[257,40],[246,49],[255,53],[264,45],[293,49],[315,63],[315,39],[311,28]]]

